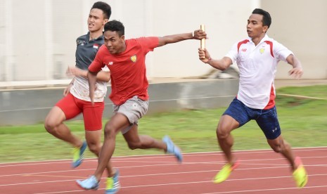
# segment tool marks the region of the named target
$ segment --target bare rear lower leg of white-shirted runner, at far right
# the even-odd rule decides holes
[[[295,164],[295,157],[290,148],[290,144],[288,144],[282,136],[278,136],[275,139],[268,139],[267,142],[269,143],[270,147],[276,152],[281,153],[287,160],[290,162],[290,165],[293,169],[297,169],[297,164]]]

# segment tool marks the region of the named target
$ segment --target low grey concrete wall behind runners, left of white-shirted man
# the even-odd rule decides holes
[[[238,79],[150,84],[148,114],[226,107],[236,96],[237,90]],[[63,88],[0,91],[0,125],[44,122],[49,110],[62,96]],[[103,117],[108,119],[112,112],[112,103],[105,98]],[[76,119],[82,119],[82,116]]]

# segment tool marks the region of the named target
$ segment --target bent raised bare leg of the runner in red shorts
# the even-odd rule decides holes
[[[54,106],[46,116],[44,128],[49,132],[49,134],[56,138],[70,143],[74,147],[81,147],[83,142],[77,136],[73,135],[70,129],[63,124],[64,120],[65,114],[63,113],[63,110]]]

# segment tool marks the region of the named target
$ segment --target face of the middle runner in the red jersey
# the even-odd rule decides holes
[[[119,54],[122,53],[125,49],[125,37],[121,37],[117,32],[105,31],[103,33],[103,39],[105,41],[105,46],[107,47],[109,53]]]

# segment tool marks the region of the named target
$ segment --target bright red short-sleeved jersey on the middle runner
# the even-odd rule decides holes
[[[141,37],[125,40],[126,50],[112,55],[105,45],[101,46],[96,58],[89,66],[91,72],[99,72],[107,65],[111,76],[110,100],[122,105],[129,98],[139,96],[148,100],[148,79],[146,78],[146,54],[159,45],[158,37]]]

